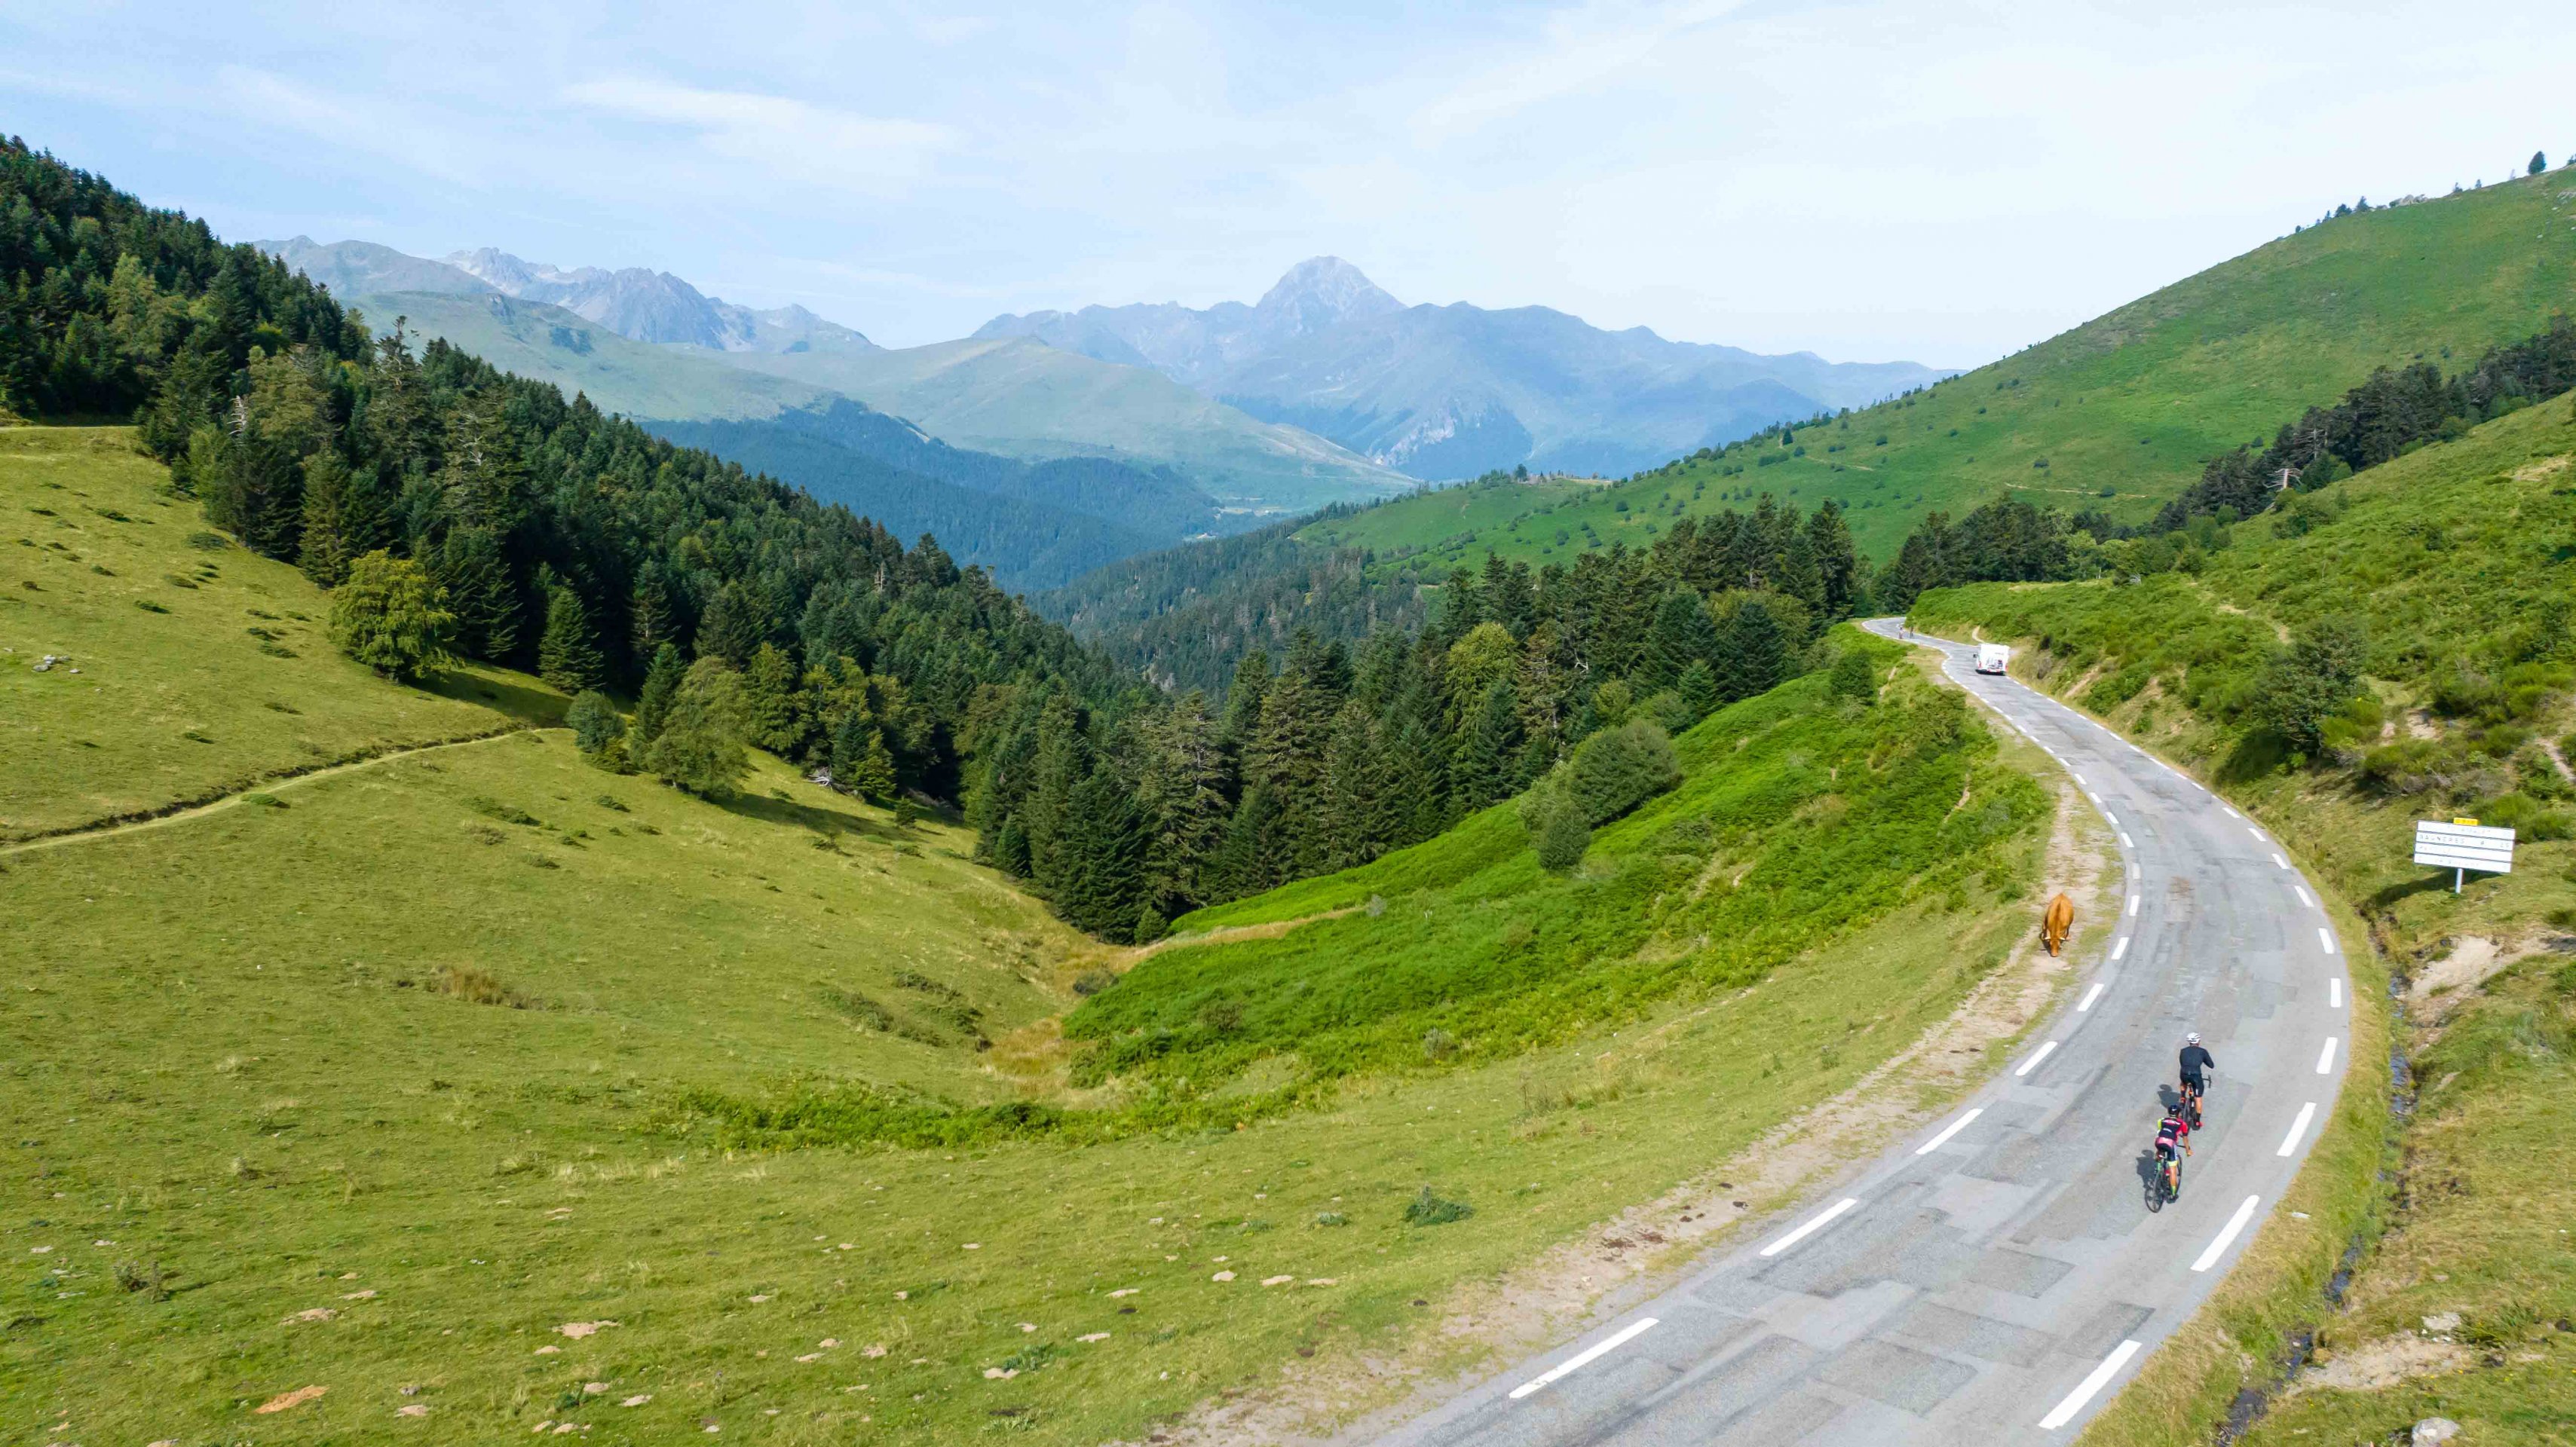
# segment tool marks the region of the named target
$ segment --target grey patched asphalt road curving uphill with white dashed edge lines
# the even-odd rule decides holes
[[[1868,623],[1899,636],[1896,618]],[[2352,984],[2316,891],[2210,790],[1940,649],[2110,819],[2120,919],[2022,1056],[1669,1293],[1386,1432],[1401,1447],[2069,1442],[2210,1295],[2334,1112]],[[2218,1056],[2146,1208],[2182,1035]]]

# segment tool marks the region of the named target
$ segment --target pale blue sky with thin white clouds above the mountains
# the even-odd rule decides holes
[[[1332,252],[1968,366],[2576,149],[2576,5],[2527,0],[237,10],[0,0],[0,131],[234,239],[649,265],[889,345]]]

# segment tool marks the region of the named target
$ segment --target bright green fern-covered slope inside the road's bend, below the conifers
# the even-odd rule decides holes
[[[1842,646],[1896,657],[1857,631]],[[1795,680],[1705,718],[1677,760],[1680,788],[1602,826],[1569,875],[1540,870],[1515,808],[1497,806],[1370,865],[1180,919],[1350,911],[1164,950],[1066,1035],[1097,1043],[1087,1069],[1200,1087],[1265,1063],[1340,1076],[1512,1056],[1741,989],[1909,901],[2009,891],[2045,814],[1960,695],[1914,680],[1873,705],[1837,700],[1824,675]]]

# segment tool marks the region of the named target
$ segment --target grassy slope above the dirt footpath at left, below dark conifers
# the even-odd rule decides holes
[[[126,427],[0,427],[0,842],[562,708],[489,669],[384,687],[167,481]]]

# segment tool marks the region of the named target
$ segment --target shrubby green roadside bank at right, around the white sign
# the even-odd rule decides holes
[[[2486,422],[2210,541],[2197,574],[1963,587],[1914,621],[2020,639],[2017,672],[2200,767],[2362,909],[2409,981],[2398,1050],[2421,1094],[2393,1192],[2344,1311],[2293,1303],[2321,1352],[2246,1442],[2424,1416],[2555,1442],[2576,1419],[2553,1329],[2576,1316],[2576,1251],[2545,1205],[2576,1141],[2576,409]],[[2367,639],[2362,680],[2326,762],[2285,767],[2275,659],[2334,621]],[[2414,821],[2450,816],[2514,824],[2514,873],[2452,893],[2409,863]],[[2202,1419],[2241,1372],[2218,1372]]]

